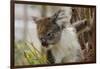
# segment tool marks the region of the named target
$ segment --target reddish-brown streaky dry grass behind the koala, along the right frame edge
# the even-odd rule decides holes
[[[71,23],[87,19],[87,26],[89,31],[81,33],[78,38],[85,57],[84,62],[96,61],[96,21],[95,21],[95,8],[81,8],[73,7]]]

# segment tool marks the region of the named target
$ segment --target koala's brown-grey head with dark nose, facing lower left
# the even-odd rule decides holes
[[[58,14],[42,19],[33,17],[33,19],[37,24],[37,34],[42,46],[48,47],[49,45],[53,45],[59,42],[65,22],[60,22],[58,20],[61,19],[58,18]]]

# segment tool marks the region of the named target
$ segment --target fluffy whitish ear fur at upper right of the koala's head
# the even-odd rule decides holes
[[[71,7],[62,7],[61,9],[61,13],[58,16],[58,20],[56,21],[56,23],[59,26],[65,26],[70,24],[70,19],[72,16],[72,9]]]

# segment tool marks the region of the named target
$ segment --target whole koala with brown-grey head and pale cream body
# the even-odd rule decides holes
[[[83,54],[75,28],[66,21],[67,16],[64,13],[64,10],[59,10],[51,17],[33,17],[38,38],[43,52],[47,54],[49,51],[54,57],[54,62],[51,63],[81,62]]]

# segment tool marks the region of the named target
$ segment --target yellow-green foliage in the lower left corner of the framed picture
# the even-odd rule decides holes
[[[46,55],[39,52],[32,43],[15,43],[15,66],[47,64]]]

